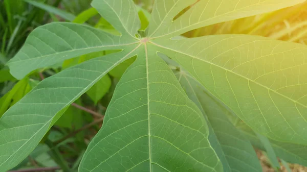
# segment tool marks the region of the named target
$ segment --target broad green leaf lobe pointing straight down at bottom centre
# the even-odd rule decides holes
[[[138,54],[79,170],[223,171],[201,111],[155,49],[145,45]]]

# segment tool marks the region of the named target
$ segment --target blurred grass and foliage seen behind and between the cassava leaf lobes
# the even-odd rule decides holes
[[[134,1],[138,6],[142,21],[141,29],[145,30],[149,22],[153,0]],[[0,117],[44,78],[83,61],[115,52],[103,51],[66,60],[61,64],[33,71],[20,81],[12,77],[9,69],[5,67],[6,62],[23,46],[31,31],[49,22],[83,23],[112,34],[118,34],[111,24],[91,8],[90,3],[91,0],[0,0]],[[183,36],[250,34],[306,44],[306,7],[307,3],[303,3],[272,13],[218,23],[187,32]],[[117,82],[134,60],[135,58],[131,58],[114,68],[82,95],[58,119],[32,154],[12,170],[33,170],[43,167],[45,170],[77,171],[87,144],[102,125],[103,115]],[[233,121],[239,129],[244,126],[237,119]],[[255,135],[250,136],[255,137]],[[276,162],[274,159],[276,157],[272,158],[262,152],[264,148],[261,147],[261,142],[257,141],[256,151],[264,171],[286,171],[288,169],[290,172],[289,168],[292,168],[292,171],[306,171],[306,168],[302,166],[280,160],[277,162],[281,164],[281,169],[275,168],[276,163],[274,166],[272,162]],[[274,144],[272,148],[274,149]]]

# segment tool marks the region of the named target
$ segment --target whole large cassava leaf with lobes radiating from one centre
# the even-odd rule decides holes
[[[134,56],[137,61],[127,65],[102,129],[90,143],[79,171],[220,172],[225,159],[228,163],[237,162],[215,153],[220,155],[221,149],[233,153],[225,145],[235,148],[236,142],[225,140],[227,132],[241,139],[243,150],[254,160],[248,141],[224,116],[220,118],[231,130],[218,124],[220,120],[213,114],[223,114],[212,108],[213,101],[206,100],[209,103],[203,111],[212,127],[208,129],[202,111],[188,99],[169,67],[157,57],[157,51],[179,62],[210,95],[257,132],[281,141],[307,144],[307,133],[302,130],[307,123],[305,46],[242,35],[169,39],[197,27],[269,12],[302,0],[203,0],[172,21],[195,2],[157,0],[146,33],[138,34],[141,25],[131,0],[92,3],[103,17],[98,26],[116,35],[73,23],[52,23],[33,31],[8,63],[17,79],[32,70],[81,55],[105,50],[121,52],[64,69],[43,80],[11,107],[0,119],[0,171],[26,158],[72,102],[115,66]],[[214,150],[210,145],[210,131],[216,134],[212,143],[220,142],[221,149]],[[244,168],[235,165],[229,167]],[[251,166],[258,168],[254,163]]]

